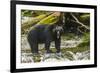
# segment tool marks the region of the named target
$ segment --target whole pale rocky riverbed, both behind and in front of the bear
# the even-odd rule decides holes
[[[21,40],[21,62],[22,63],[31,63],[34,62],[33,55],[30,50],[30,46],[27,42],[27,36],[23,35]],[[71,48],[76,47],[79,43],[81,43],[81,40],[67,40],[67,41],[61,41],[61,49],[63,48]],[[43,49],[44,45],[39,45],[39,49]],[[54,43],[52,42],[50,48],[54,48]],[[41,52],[41,51],[40,51]],[[45,52],[41,52],[40,54],[40,62],[50,62],[50,61],[75,61],[75,60],[89,60],[90,59],[90,51],[86,50],[83,52],[72,52],[72,51],[66,51],[61,52],[60,56],[58,56],[55,53],[51,53],[49,55],[45,54]]]

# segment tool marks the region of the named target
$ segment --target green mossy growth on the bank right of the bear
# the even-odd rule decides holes
[[[66,52],[66,51],[72,51],[74,53],[76,52],[83,52],[86,50],[90,49],[90,33],[84,33],[82,37],[80,37],[82,39],[82,43],[80,43],[77,47],[72,47],[72,48],[63,48],[62,52]],[[66,36],[63,36],[63,39],[66,40],[72,40],[75,39],[75,35],[74,34],[68,34]]]

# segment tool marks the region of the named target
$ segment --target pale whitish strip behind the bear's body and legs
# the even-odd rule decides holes
[[[81,43],[82,40],[61,40],[61,48],[71,48],[71,47],[76,47],[79,43]],[[39,44],[39,49],[43,49],[44,44]],[[54,42],[51,43],[50,48],[55,48]],[[26,35],[22,36],[21,39],[21,49],[22,50],[30,50],[30,46],[27,41]]]

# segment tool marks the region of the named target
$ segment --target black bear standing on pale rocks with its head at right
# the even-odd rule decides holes
[[[57,53],[60,52],[61,33],[63,27],[61,25],[35,25],[28,33],[28,42],[33,54],[38,54],[38,44],[44,43],[46,53],[51,53],[50,43],[55,42]]]

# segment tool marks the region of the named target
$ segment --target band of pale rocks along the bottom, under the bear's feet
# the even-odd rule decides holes
[[[34,58],[34,59],[33,59]],[[22,63],[30,63],[30,62],[59,62],[59,61],[77,61],[77,60],[89,60],[90,52],[77,52],[76,54],[67,51],[66,53],[61,53],[58,56],[56,53],[44,54],[41,56],[34,57],[32,53],[22,53]]]

